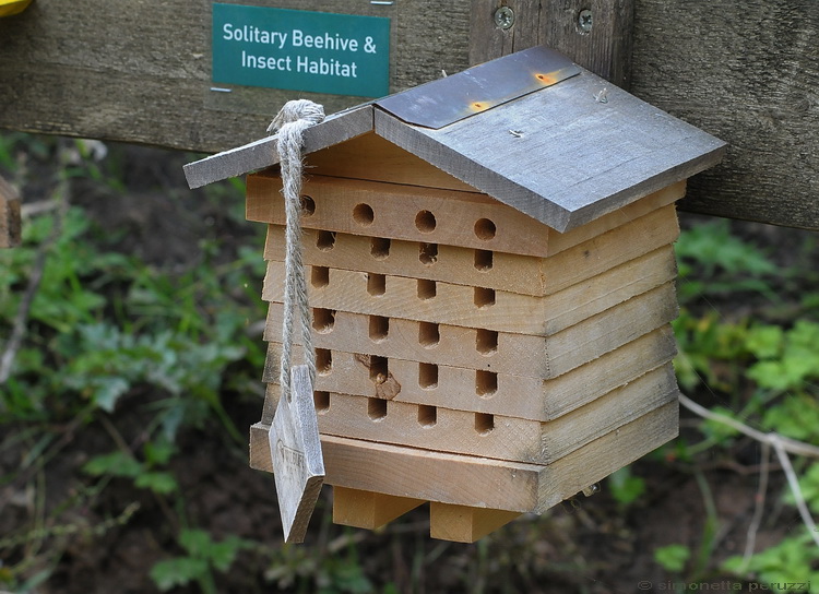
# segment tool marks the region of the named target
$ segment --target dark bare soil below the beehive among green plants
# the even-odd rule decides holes
[[[246,231],[218,212],[192,215],[197,194],[180,190],[185,155],[168,157],[140,147],[128,147],[126,155],[132,164],[127,195],[99,200],[93,188],[80,182],[74,199],[106,226],[128,228],[122,249],[158,264],[185,265],[197,251],[201,225],[224,225],[225,236],[241,241]],[[173,199],[158,193],[157,186],[174,188]],[[770,233],[759,228],[748,233]],[[166,239],[152,241],[157,235]],[[708,392],[691,395],[713,404]],[[116,426],[126,442],[139,442],[149,418],[146,405],[155,397],[146,391],[129,393],[106,423]],[[237,427],[247,429],[259,419],[258,396],[226,394],[224,400]],[[699,441],[693,419],[685,413],[682,417],[680,439]],[[375,533],[333,525],[332,494],[325,487],[308,542],[283,547],[273,477],[250,470],[247,452],[230,443],[218,426],[186,429],[180,437],[181,454],[171,470],[181,486],[183,510],[134,488],[126,478],[112,478],[99,492],[90,490],[90,477],[80,467],[111,451],[105,423],[51,429],[56,441],[49,451],[56,453],[43,472],[17,473],[13,482],[0,483],[0,539],[21,531],[31,536],[0,549],[0,570],[22,558],[34,560],[31,575],[56,567],[32,590],[41,594],[158,592],[149,571],[157,561],[181,554],[175,535],[186,525],[203,527],[217,540],[238,535],[253,543],[229,571],[214,572],[217,592],[662,592],[673,590],[680,579],[653,560],[653,551],[669,544],[687,545],[693,556],[704,556],[703,581],[738,584],[714,568],[741,554],[758,484],[759,450],[749,440],[713,451],[708,463],[697,467],[675,460],[668,448],[632,466],[646,483],[645,495],[636,503],[619,504],[604,482],[602,492],[593,497],[580,496],[541,518],[523,516],[475,545],[429,539],[425,509]],[[21,460],[37,454],[37,436],[27,430],[22,424],[2,427],[0,476],[14,474]],[[795,511],[778,503],[781,473],[774,472],[771,480],[770,510],[757,549],[798,524]],[[711,490],[719,519],[711,546],[703,488]],[[52,519],[48,526],[34,516],[38,497],[45,497],[46,516]],[[37,526],[48,528],[48,536],[38,538],[32,532]],[[197,584],[174,590],[200,591]]]

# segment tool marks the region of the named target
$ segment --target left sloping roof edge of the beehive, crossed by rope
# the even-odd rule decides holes
[[[329,116],[305,131],[305,153],[313,153],[373,128],[371,104],[359,105]],[[229,148],[182,167],[188,187],[193,190],[230,177],[264,169],[278,163],[277,134]]]

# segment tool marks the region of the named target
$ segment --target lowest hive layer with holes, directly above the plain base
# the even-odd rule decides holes
[[[322,435],[379,443],[549,464],[597,437],[676,401],[677,393],[670,364],[548,423],[476,415],[397,400],[385,403],[384,416],[372,418],[370,399],[330,393],[329,407],[319,413],[319,429]],[[548,394],[522,393],[520,397],[539,401],[548,399]]]

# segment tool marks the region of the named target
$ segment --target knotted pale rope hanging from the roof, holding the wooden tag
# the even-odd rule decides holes
[[[268,132],[278,130],[278,161],[282,168],[282,195],[284,195],[287,227],[284,259],[284,323],[282,324],[282,360],[280,383],[282,396],[290,402],[290,359],[293,357],[294,326],[298,316],[305,363],[310,373],[310,384],[316,382],[316,352],[310,329],[312,316],[307,300],[305,266],[301,263],[301,144],[305,130],[324,119],[324,108],[307,99],[287,102],[268,127]],[[297,311],[298,310],[298,311]]]

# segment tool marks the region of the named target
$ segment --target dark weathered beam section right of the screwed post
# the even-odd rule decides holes
[[[637,0],[631,92],[728,143],[687,211],[819,230],[819,2]]]

